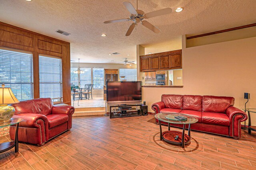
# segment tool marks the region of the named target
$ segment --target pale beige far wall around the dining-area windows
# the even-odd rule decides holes
[[[121,61],[120,61],[121,62]],[[71,63],[71,67],[78,67],[78,63]],[[80,63],[80,67],[98,67],[98,68],[104,68],[104,69],[119,69],[119,68],[137,68],[137,64],[132,64],[132,66],[129,66],[129,64],[103,64],[103,63]],[[118,70],[119,71],[119,70]],[[119,73],[118,73],[119,74]],[[93,90],[92,94],[95,96],[103,96],[103,90]]]

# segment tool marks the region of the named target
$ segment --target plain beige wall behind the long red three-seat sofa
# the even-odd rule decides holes
[[[183,88],[142,88],[151,105],[162,94],[233,96],[242,109],[244,92],[251,94],[247,107],[256,108],[256,37],[186,48],[182,37]],[[256,114],[252,114],[256,125]]]

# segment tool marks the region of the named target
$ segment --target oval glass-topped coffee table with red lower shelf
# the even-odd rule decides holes
[[[184,117],[186,120],[178,120],[176,117]],[[164,140],[167,143],[171,143],[174,145],[181,145],[184,148],[184,145],[190,142],[190,125],[196,123],[198,119],[192,115],[187,114],[180,114],[180,113],[173,113],[173,112],[163,112],[157,113],[155,118],[159,121],[160,126],[160,141]],[[162,132],[162,122],[168,123],[168,131]],[[172,124],[182,124],[183,130],[182,132],[179,131],[170,131],[170,123]],[[188,124],[188,135],[185,134],[185,125]],[[175,137],[178,135],[178,139]]]

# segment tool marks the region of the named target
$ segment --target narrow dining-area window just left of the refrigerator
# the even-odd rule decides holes
[[[104,68],[92,68],[93,88],[103,89],[104,85]]]

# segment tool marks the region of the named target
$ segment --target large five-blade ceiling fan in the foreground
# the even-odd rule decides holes
[[[110,21],[105,21],[104,23],[133,21],[134,23],[132,23],[132,25],[130,25],[130,27],[127,30],[125,36],[129,36],[132,33],[134,27],[138,23],[140,23],[140,21],[141,21],[143,26],[147,27],[148,29],[150,29],[154,33],[160,33],[160,29],[158,29],[157,27],[155,27],[154,25],[152,25],[151,23],[149,23],[148,21],[146,21],[144,19],[153,18],[153,17],[156,17],[156,16],[162,16],[162,15],[165,15],[165,14],[172,13],[171,8],[164,8],[164,9],[161,9],[161,10],[156,10],[156,11],[148,12],[148,13],[145,14],[142,10],[138,10],[138,0],[137,0],[137,10],[135,10],[135,8],[132,6],[132,4],[130,2],[123,2],[123,4],[127,8],[127,10],[130,12],[130,18],[119,19],[119,20],[110,20]]]

